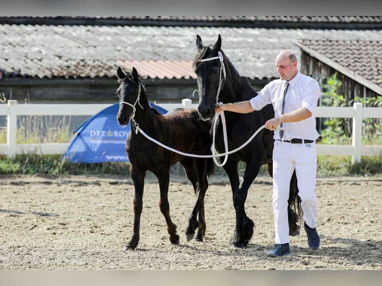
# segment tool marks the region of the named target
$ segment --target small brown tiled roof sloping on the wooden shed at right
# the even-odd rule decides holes
[[[382,76],[382,40],[303,40],[301,44],[382,87],[379,83]]]

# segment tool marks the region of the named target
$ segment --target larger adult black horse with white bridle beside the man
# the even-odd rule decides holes
[[[197,75],[199,90],[198,111],[203,120],[212,120],[214,123],[216,120],[215,104],[218,101],[223,103],[245,101],[256,96],[257,93],[250,85],[249,80],[240,76],[231,61],[224,55],[221,50],[220,35],[213,46],[203,46],[200,36],[196,35],[196,48],[197,53],[193,59],[193,67]],[[260,111],[249,114],[225,112],[224,116],[228,149],[233,150],[245,143],[267,120],[273,118],[274,111],[272,105],[268,105]],[[225,151],[223,127],[221,119],[218,118],[217,120],[215,148],[219,153],[223,153]],[[268,173],[272,176],[273,143],[273,132],[263,129],[244,148],[230,154],[227,162],[223,165],[231,184],[233,206],[236,211],[236,229],[230,240],[231,247],[245,248],[253,236],[254,223],[246,216],[244,204],[248,188],[262,165],[268,165]],[[237,171],[239,161],[246,163],[241,183]],[[288,200],[290,235],[297,235],[300,229],[297,222],[301,218],[302,211],[301,200],[297,194],[297,178],[294,172]]]

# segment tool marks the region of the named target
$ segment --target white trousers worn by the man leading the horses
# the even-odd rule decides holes
[[[289,243],[288,198],[293,171],[296,169],[298,195],[303,219],[314,228],[317,225],[316,143],[292,144],[275,140],[273,148],[273,214],[275,243]]]

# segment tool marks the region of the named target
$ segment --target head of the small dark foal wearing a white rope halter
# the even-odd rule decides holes
[[[131,73],[124,73],[121,67],[117,69],[118,82],[120,83],[117,89],[119,97],[119,110],[117,121],[120,125],[126,125],[131,116],[134,117],[135,108],[139,104],[141,94],[141,82],[138,72],[133,67]]]

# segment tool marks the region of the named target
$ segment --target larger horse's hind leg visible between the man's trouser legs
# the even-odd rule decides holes
[[[294,171],[290,181],[289,198],[288,198],[289,235],[295,236],[300,234],[300,225],[297,224],[297,222],[299,221],[299,218],[301,217],[301,215],[302,215],[301,199],[298,196],[297,176],[296,176],[296,171]]]

